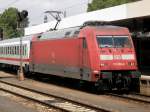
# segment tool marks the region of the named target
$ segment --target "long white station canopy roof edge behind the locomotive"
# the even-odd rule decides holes
[[[87,12],[62,19],[58,29],[81,26],[86,21],[120,21],[132,18],[150,17],[150,0],[141,0],[133,3],[118,5],[97,11]],[[25,28],[25,35],[46,32],[54,28],[56,21],[43,23]]]

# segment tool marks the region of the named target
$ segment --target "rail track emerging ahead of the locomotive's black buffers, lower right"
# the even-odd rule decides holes
[[[144,94],[137,94],[137,93],[131,93],[131,94],[114,94],[114,93],[107,93],[109,96],[119,97],[125,100],[131,100],[139,103],[146,103],[150,104],[150,96],[144,95]]]

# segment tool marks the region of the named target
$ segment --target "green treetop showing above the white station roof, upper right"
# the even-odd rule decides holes
[[[88,4],[87,11],[94,11],[134,1],[139,0],[93,0],[92,3]]]

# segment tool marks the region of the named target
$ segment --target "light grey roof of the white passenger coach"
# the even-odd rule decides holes
[[[32,36],[24,36],[22,37],[22,41],[31,41],[32,40]],[[6,39],[6,40],[1,40],[0,41],[0,44],[3,44],[3,43],[10,43],[10,42],[18,42],[20,41],[20,37],[18,38],[12,38],[12,39]]]

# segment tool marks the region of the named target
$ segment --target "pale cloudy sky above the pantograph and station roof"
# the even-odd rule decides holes
[[[67,16],[73,16],[84,13],[87,10],[87,4],[91,0],[0,0],[0,13],[9,7],[16,7],[20,11],[29,12],[30,26],[41,24],[44,21],[44,15],[47,15],[48,21],[53,18],[45,14],[48,10],[66,11]]]

